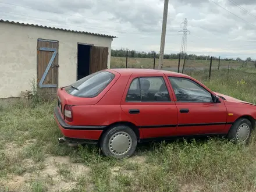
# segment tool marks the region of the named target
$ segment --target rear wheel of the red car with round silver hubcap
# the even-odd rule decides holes
[[[102,135],[99,145],[106,157],[127,158],[136,150],[137,136],[129,126],[116,125]]]

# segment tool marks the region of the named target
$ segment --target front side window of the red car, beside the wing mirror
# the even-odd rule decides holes
[[[193,80],[168,77],[175,92],[177,102],[213,102],[212,95]]]

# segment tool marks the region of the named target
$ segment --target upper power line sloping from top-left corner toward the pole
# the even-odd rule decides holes
[[[45,9],[34,9],[34,8],[31,8],[30,6],[22,6],[22,5],[16,5],[16,4],[12,4],[12,3],[5,3],[5,2],[0,2],[0,3],[3,3],[3,4],[6,4],[6,5],[11,5],[11,6],[19,6],[21,8],[28,8],[28,9],[32,9],[32,10],[39,10],[39,11],[42,11],[42,12],[48,12],[48,13],[55,13],[57,15],[67,15],[67,16],[72,16],[72,17],[80,17],[80,18],[84,18],[84,19],[92,19],[92,20],[98,20],[98,21],[102,21],[102,22],[112,22],[112,23],[119,23],[119,24],[122,24],[120,22],[115,22],[115,21],[109,21],[109,20],[104,20],[104,19],[95,19],[95,18],[92,18],[92,17],[84,17],[84,16],[78,16],[78,15],[70,15],[70,14],[67,14],[67,13],[58,13],[58,12],[53,12],[53,11],[49,11],[49,10],[45,10]],[[130,22],[129,22],[130,23]],[[131,23],[130,23],[131,24]],[[143,24],[144,26],[150,26],[150,24]],[[170,27],[170,26],[169,26]],[[170,28],[176,28],[174,26],[170,27]]]

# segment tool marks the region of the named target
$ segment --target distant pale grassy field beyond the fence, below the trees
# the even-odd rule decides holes
[[[140,68],[143,66],[144,68],[153,69],[154,59],[151,58],[128,58],[127,65],[130,68]],[[187,60],[185,66],[186,67],[209,67],[210,59],[208,61],[201,60]],[[213,61],[212,66],[218,66],[219,61]],[[228,61],[221,61],[220,66],[228,66]],[[230,62],[230,67],[241,67],[243,62]],[[157,69],[158,59],[155,60],[155,66]],[[178,59],[164,59],[163,67],[177,67]],[[183,60],[180,61],[180,66],[183,66]],[[247,66],[254,66],[253,62],[248,62]],[[111,67],[126,67],[126,58],[122,57],[111,57]]]

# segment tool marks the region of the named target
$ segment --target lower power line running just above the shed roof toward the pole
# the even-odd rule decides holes
[[[15,15],[21,15],[21,14],[17,14],[17,13],[10,13],[10,14],[15,14]],[[0,15],[3,15],[0,13]],[[3,15],[3,16],[9,16],[9,15]],[[21,15],[21,16],[26,16],[26,15]],[[18,19],[26,19],[26,20],[31,20],[31,21],[35,21],[37,19],[43,19],[41,17],[34,17],[35,19],[27,19],[27,18],[24,18],[24,17],[17,17],[17,16],[11,16],[11,17],[15,17],[15,18],[18,18]],[[33,17],[33,16],[26,16],[26,17]],[[44,20],[48,20],[48,19],[44,19]],[[37,20],[38,22],[44,22],[44,23],[56,23],[56,24],[59,24],[58,22],[54,22],[52,20],[48,20],[47,22],[46,21],[43,21],[43,20]],[[88,27],[88,28],[91,28],[91,29],[99,29],[99,30],[106,30],[106,28],[104,27],[95,27],[95,26],[87,26],[87,25],[83,25],[81,24],[80,26],[76,26],[76,25],[73,25],[73,24],[61,24],[61,25],[64,25],[64,26],[74,26],[74,27],[80,27],[82,28],[81,26],[84,26],[84,27]],[[159,35],[159,33],[143,33],[143,32],[139,32],[139,31],[121,31],[121,30],[115,30],[115,29],[107,29],[109,31],[113,31],[113,32],[116,32],[116,33],[134,33],[134,34],[142,34],[142,35]],[[175,35],[175,34],[168,34],[169,35]]]

